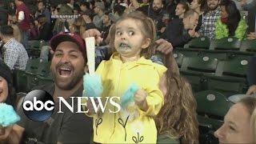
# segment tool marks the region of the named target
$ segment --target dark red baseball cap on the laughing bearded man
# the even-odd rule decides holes
[[[79,49],[82,51],[82,54],[86,56],[86,42],[81,38],[80,35],[74,33],[59,33],[54,35],[50,39],[50,47],[52,50],[56,50],[58,44],[61,42],[74,42],[79,46]]]

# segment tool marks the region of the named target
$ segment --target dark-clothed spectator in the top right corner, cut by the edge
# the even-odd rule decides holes
[[[256,1],[252,1],[250,3],[247,0],[242,0],[241,6],[243,10],[248,11],[248,25],[249,25],[249,32],[256,32]]]

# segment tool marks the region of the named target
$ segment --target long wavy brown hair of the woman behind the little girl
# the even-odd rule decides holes
[[[166,94],[164,106],[155,118],[158,134],[180,138],[182,143],[198,143],[197,103],[190,83],[178,71],[173,54],[165,58]]]

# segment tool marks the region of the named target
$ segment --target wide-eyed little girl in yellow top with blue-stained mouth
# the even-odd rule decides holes
[[[98,143],[155,143],[157,129],[154,123],[163,105],[163,94],[158,83],[166,67],[151,62],[152,43],[155,38],[154,22],[144,14],[132,12],[120,18],[110,32],[116,52],[109,61],[103,61],[96,73],[102,77],[103,94],[106,97],[122,97],[135,84],[133,114],[118,113],[117,107],[106,102],[104,113],[93,114],[94,142]],[[106,99],[105,99],[106,100]],[[103,100],[104,101],[104,100]],[[116,99],[117,103],[120,103]],[[129,110],[126,110],[126,112]]]

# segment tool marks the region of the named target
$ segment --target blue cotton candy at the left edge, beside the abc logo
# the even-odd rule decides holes
[[[13,106],[0,103],[0,126],[6,127],[14,125],[21,118],[16,114]]]

